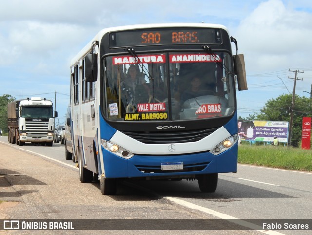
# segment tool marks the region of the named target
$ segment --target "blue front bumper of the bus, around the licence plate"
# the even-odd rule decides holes
[[[237,143],[219,155],[201,152],[186,155],[134,155],[123,159],[102,149],[107,178],[189,178],[190,175],[227,173],[237,171]],[[165,169],[164,165],[175,165],[182,169]],[[165,170],[164,170],[165,169]]]

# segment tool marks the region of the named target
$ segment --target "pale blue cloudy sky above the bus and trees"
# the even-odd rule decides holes
[[[0,96],[50,99],[63,124],[70,61],[101,29],[170,22],[223,24],[236,38],[248,84],[237,91],[238,116],[292,93],[292,71],[296,94],[310,97],[311,0],[1,0]]]

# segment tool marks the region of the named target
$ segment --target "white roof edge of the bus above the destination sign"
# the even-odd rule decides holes
[[[71,60],[70,66],[75,65],[83,56],[85,56],[90,50],[94,41],[100,41],[104,34],[108,32],[131,30],[131,29],[142,29],[142,28],[171,28],[171,27],[197,27],[197,28],[221,28],[227,31],[228,29],[221,24],[210,24],[210,23],[155,23],[155,24],[136,24],[126,25],[118,27],[104,28],[96,34],[96,36]]]

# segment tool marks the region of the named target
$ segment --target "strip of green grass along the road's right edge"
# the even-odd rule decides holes
[[[312,150],[271,145],[240,145],[238,147],[238,162],[289,170],[312,171]]]

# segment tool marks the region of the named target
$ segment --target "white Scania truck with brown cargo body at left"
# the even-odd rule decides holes
[[[8,141],[24,145],[25,142],[53,145],[54,121],[58,112],[53,103],[41,97],[31,97],[8,103]]]

